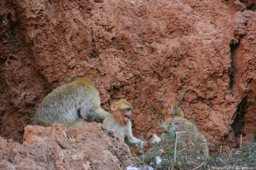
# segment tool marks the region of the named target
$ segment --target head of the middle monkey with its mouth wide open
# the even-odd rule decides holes
[[[110,114],[113,114],[119,124],[126,124],[132,117],[132,105],[125,99],[110,104]]]

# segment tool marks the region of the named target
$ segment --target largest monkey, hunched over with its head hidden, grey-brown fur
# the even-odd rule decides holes
[[[109,115],[100,106],[99,92],[93,80],[78,76],[55,88],[39,105],[33,125],[70,125],[76,119],[83,122],[102,122]]]

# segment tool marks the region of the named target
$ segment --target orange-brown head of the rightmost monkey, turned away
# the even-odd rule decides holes
[[[168,118],[172,118],[173,116],[181,116],[182,118],[184,118],[184,112],[182,111],[182,109],[173,104],[169,104],[168,107],[164,107],[161,113],[163,121]]]

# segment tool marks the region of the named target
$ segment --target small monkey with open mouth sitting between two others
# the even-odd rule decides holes
[[[132,135],[132,105],[125,99],[110,104],[110,114],[103,120],[102,126],[106,129],[114,129],[118,136],[127,144],[135,146],[140,143],[144,147],[144,141]]]

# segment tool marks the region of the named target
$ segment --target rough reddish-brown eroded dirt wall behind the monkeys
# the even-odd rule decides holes
[[[106,110],[109,98],[132,103],[135,137],[160,134],[150,109],[160,120],[163,101],[185,89],[185,118],[208,141],[236,147],[240,134],[251,141],[254,8],[253,1],[2,0],[1,137],[22,142],[46,94],[86,75]]]

